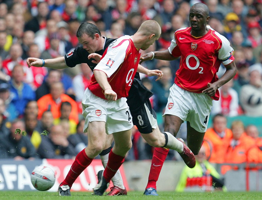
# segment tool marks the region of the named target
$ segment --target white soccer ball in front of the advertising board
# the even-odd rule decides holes
[[[35,189],[49,190],[55,184],[55,172],[47,166],[38,166],[31,173],[31,182]]]

